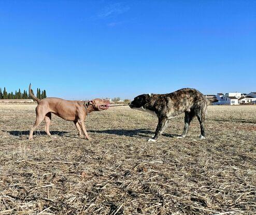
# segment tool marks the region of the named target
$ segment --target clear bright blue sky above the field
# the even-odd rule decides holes
[[[256,1],[0,1],[0,87],[66,99],[256,91]]]

